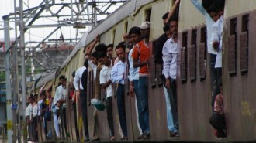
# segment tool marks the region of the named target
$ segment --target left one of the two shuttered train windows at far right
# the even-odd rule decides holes
[[[230,19],[230,36],[228,37],[228,68],[230,76],[237,71],[237,18]]]

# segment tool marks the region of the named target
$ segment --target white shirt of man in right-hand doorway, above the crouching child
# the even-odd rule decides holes
[[[213,44],[213,41],[216,41],[219,43],[215,68],[222,67],[222,33],[223,33],[223,16],[220,16],[220,19],[218,19],[213,24],[213,33],[212,33],[212,40],[211,40],[212,44]]]

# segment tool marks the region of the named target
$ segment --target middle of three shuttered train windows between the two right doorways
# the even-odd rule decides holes
[[[191,32],[191,46],[189,49],[189,75],[192,82],[196,80],[196,39],[197,30],[194,29]]]

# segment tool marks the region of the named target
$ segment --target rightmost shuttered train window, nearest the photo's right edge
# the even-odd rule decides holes
[[[249,15],[242,17],[242,32],[240,34],[240,70],[242,74],[248,70],[248,46],[249,46]]]

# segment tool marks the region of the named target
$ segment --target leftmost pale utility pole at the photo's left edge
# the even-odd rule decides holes
[[[11,109],[11,80],[10,80],[10,34],[9,16],[3,17],[5,25],[5,87],[6,87],[6,114],[7,114],[7,142],[12,143],[12,109]]]

